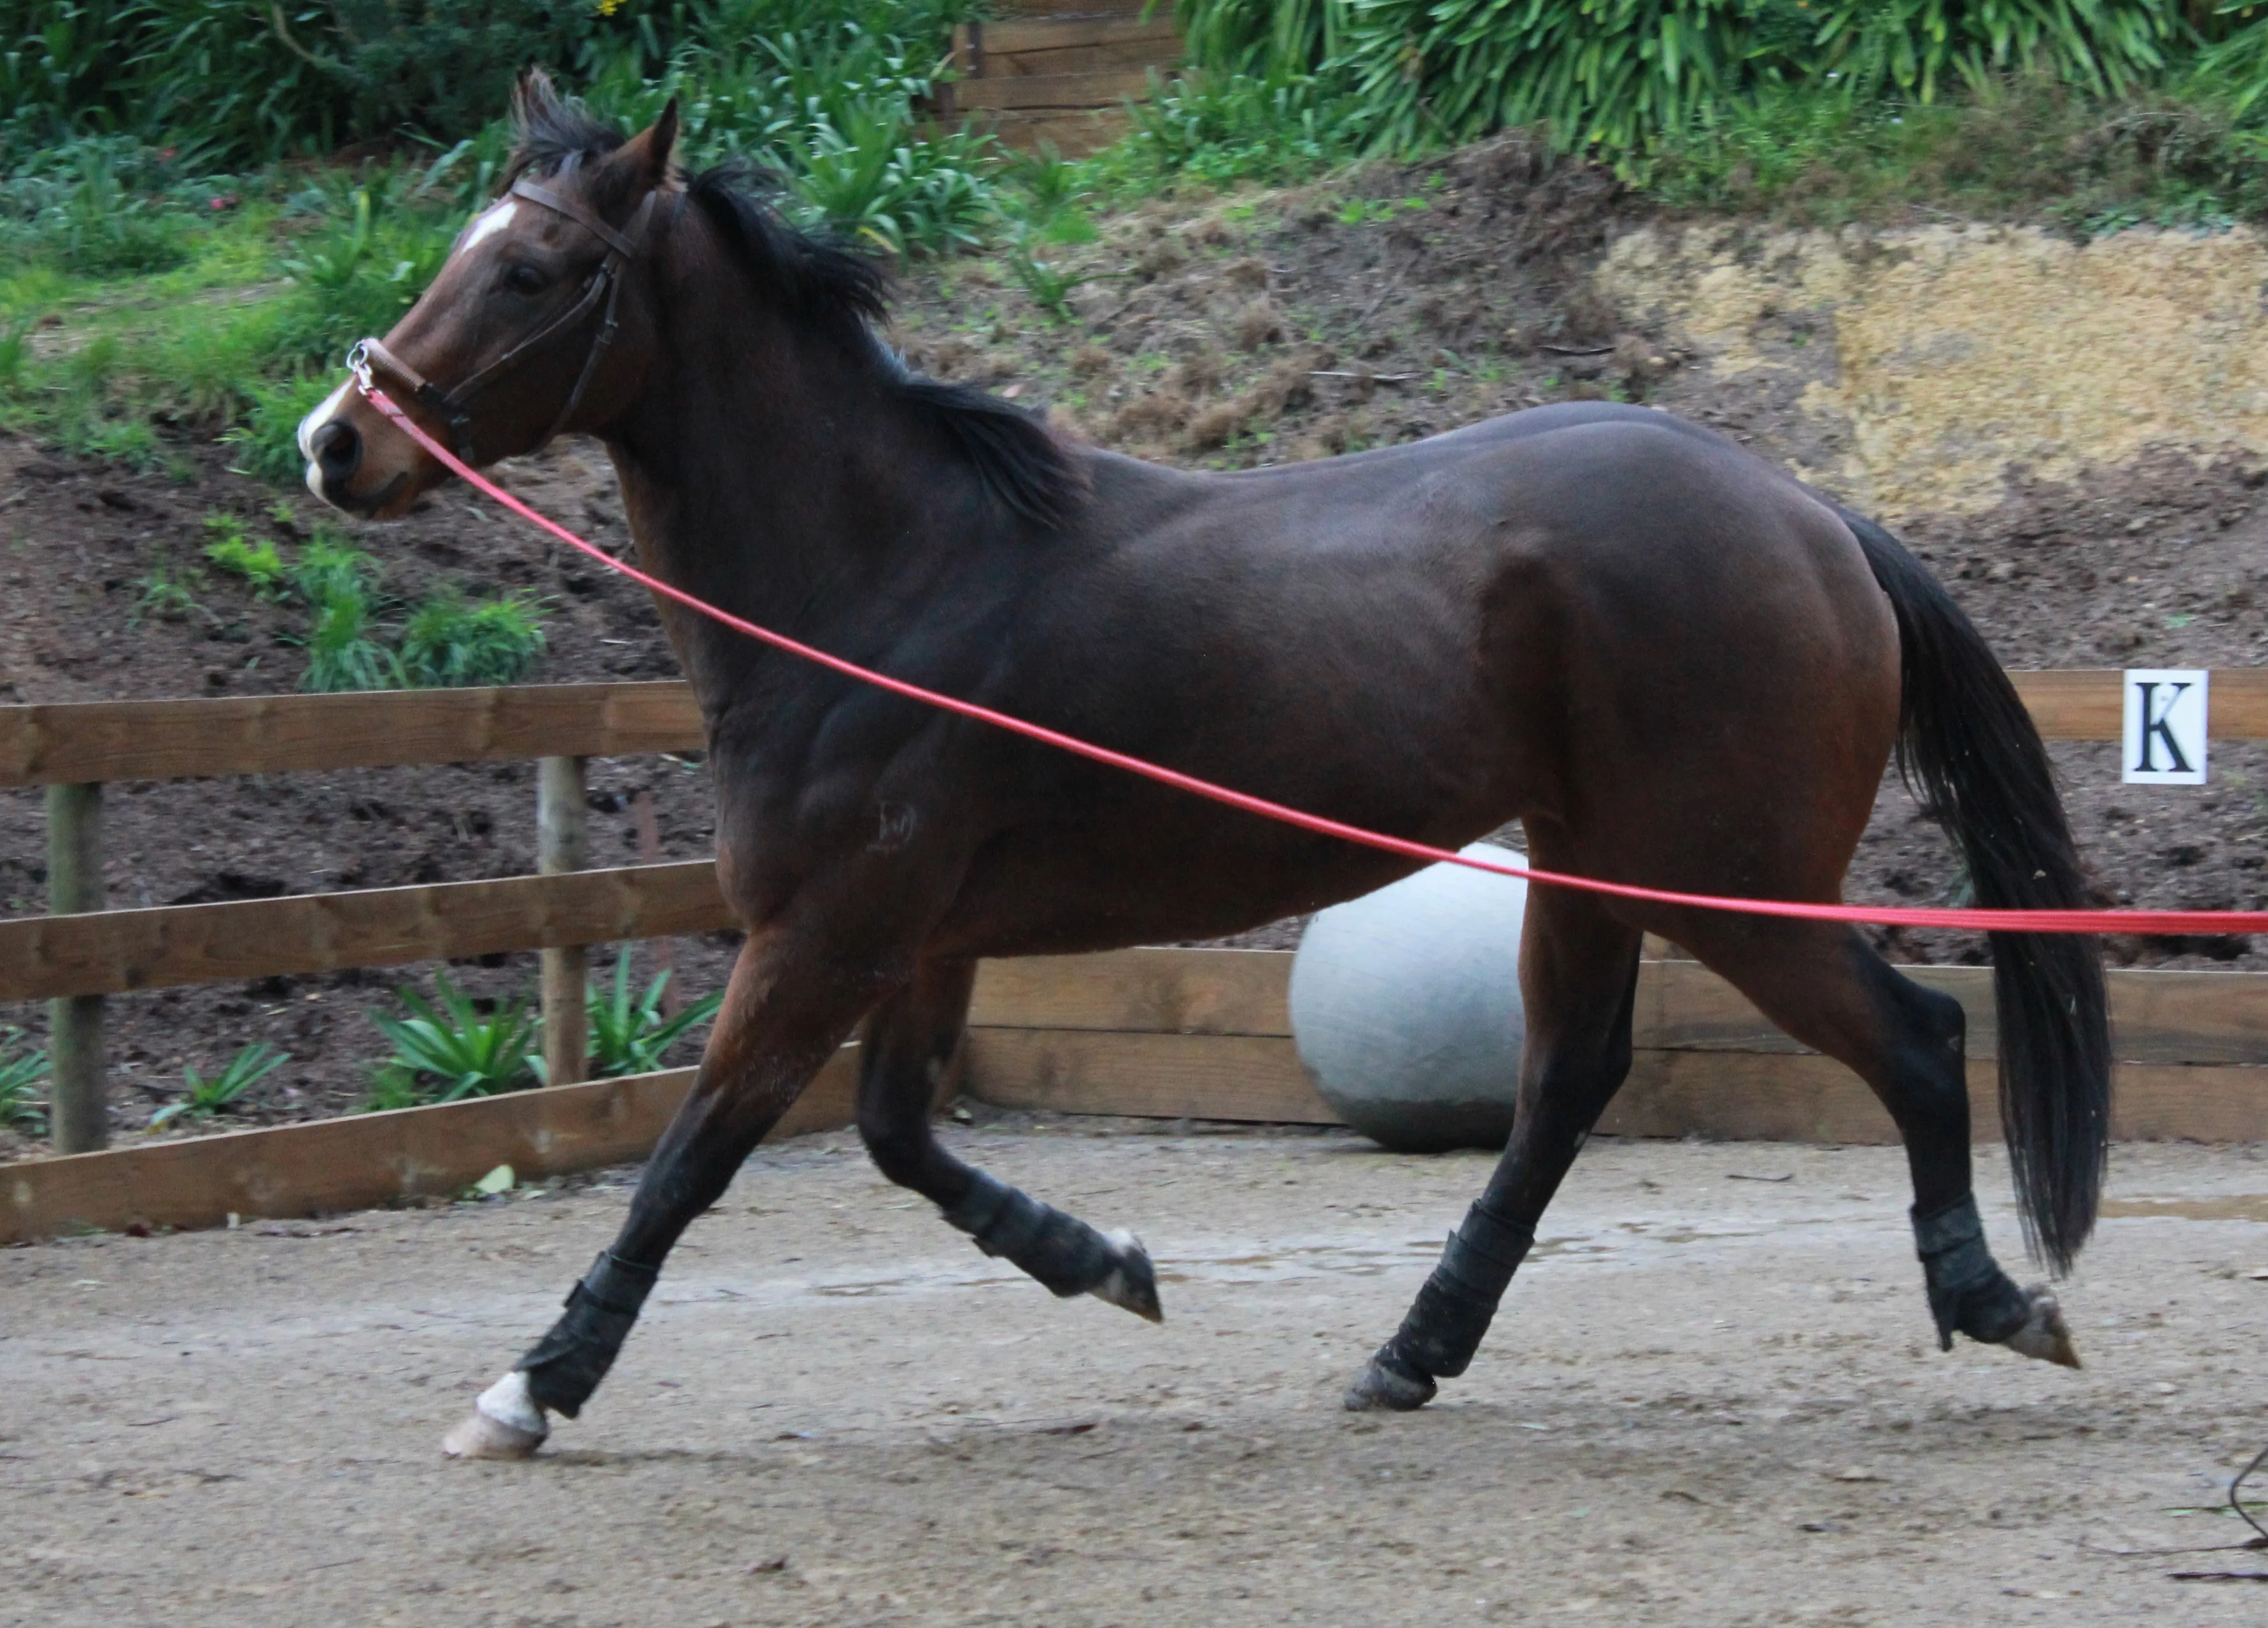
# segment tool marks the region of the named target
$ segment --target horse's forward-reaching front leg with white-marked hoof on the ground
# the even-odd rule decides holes
[[[823,934],[785,925],[748,936],[692,1095],[653,1150],[612,1247],[567,1295],[551,1333],[449,1431],[447,1453],[526,1458],[549,1435],[551,1413],[572,1419],[583,1410],[631,1336],[671,1245],[723,1197],[742,1161],[887,989],[873,970],[880,959],[844,955]]]

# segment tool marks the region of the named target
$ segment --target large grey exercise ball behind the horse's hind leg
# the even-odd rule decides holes
[[[1526,864],[1508,848],[1463,853]],[[1529,884],[1436,864],[1334,905],[1290,964],[1290,1032],[1315,1091],[1397,1152],[1501,1147],[1520,1086]]]

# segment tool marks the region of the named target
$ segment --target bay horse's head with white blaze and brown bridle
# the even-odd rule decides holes
[[[458,236],[433,286],[356,367],[458,458],[535,451],[562,429],[612,419],[653,349],[651,247],[674,188],[676,102],[624,141],[526,73],[513,95],[510,184]],[[447,469],[340,385],[299,424],[306,485],[392,519]]]

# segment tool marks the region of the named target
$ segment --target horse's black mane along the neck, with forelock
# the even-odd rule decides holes
[[[522,175],[562,175],[603,159],[621,132],[581,104],[551,93],[549,82],[513,97],[517,143],[506,186]],[[733,245],[758,295],[796,322],[819,329],[862,365],[875,367],[898,397],[950,435],[984,490],[1009,512],[1055,531],[1086,497],[1086,469],[1043,419],[975,385],[948,385],[905,367],[875,336],[889,315],[889,274],[841,243],[801,231],[764,200],[767,177],[746,163],[721,163],[685,184],[687,197]]]

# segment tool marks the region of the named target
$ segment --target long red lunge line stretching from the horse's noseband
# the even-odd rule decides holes
[[[1127,773],[1145,775],[1159,785],[1175,787],[1179,791],[1191,791],[1213,803],[1227,803],[1229,807],[1243,809],[1247,814],[1259,814],[1263,819],[1281,821],[1286,825],[1300,825],[1302,830],[1320,832],[1325,837],[1340,837],[1352,843],[1363,843],[1365,848],[1383,848],[1386,853],[1404,855],[1406,859],[1427,859],[1433,864],[1461,864],[1467,871],[1488,871],[1490,875],[1513,875],[1524,882],[1542,882],[1545,887],[1574,887],[1588,893],[1613,893],[1615,898],[1637,898],[1649,905],[1685,905],[1690,909],[1730,909],[1744,911],[1749,916],[1789,916],[1794,921],[1855,921],[1855,923],[1878,923],[1892,927],[1971,927],[1978,932],[2159,932],[2159,934],[2225,934],[2225,932],[2268,932],[2268,909],[1901,909],[1901,907],[1871,907],[1871,905],[1801,905],[1794,900],[1771,900],[1771,898],[1715,898],[1708,893],[1667,893],[1653,887],[1633,887],[1628,882],[1599,882],[1585,875],[1560,875],[1556,871],[1531,871],[1517,864],[1497,864],[1492,859],[1467,859],[1461,853],[1449,853],[1447,848],[1429,848],[1422,841],[1406,841],[1402,837],[1388,837],[1386,832],[1363,830],[1361,825],[1345,825],[1334,819],[1322,819],[1320,814],[1304,814],[1281,803],[1270,803],[1268,798],[1256,798],[1245,791],[1232,791],[1229,787],[1213,785],[1211,780],[1198,780],[1195,775],[1184,775],[1177,769],[1166,769],[1161,764],[1143,762],[1141,757],[1127,757],[1125,753],[1114,753],[1109,746],[1095,746],[1093,741],[1082,741],[1075,735],[1061,735],[1046,728],[1043,723],[1030,723],[1025,719],[1014,719],[1007,712],[993,712],[991,707],[980,707],[973,701],[957,701],[955,696],[941,696],[934,689],[923,689],[921,685],[909,685],[903,678],[891,678],[887,673],[875,673],[873,669],[860,667],[857,662],[846,662],[839,655],[828,655],[826,651],[812,648],[798,639],[789,639],[785,633],[773,633],[771,628],[760,628],[753,621],[742,621],[739,617],[717,610],[705,601],[694,599],[680,587],[646,576],[635,565],[624,565],[606,549],[583,542],[572,531],[560,526],[533,508],[522,503],[517,497],[499,487],[494,481],[483,476],[479,469],[463,463],[456,453],[442,447],[438,440],[426,435],[408,413],[386,399],[386,392],[370,383],[367,376],[361,381],[361,390],[370,397],[370,406],[390,417],[401,431],[433,453],[447,469],[451,469],[460,481],[485,492],[494,501],[503,503],[508,510],[522,519],[542,526],[553,537],[565,542],[569,549],[581,549],[592,560],[610,571],[628,576],[633,583],[644,583],[655,594],[674,599],[676,603],[694,610],[710,621],[719,621],[735,633],[746,633],[751,639],[771,644],[773,648],[787,651],[789,655],[801,655],[807,662],[819,662],[846,678],[857,678],[860,682],[887,689],[894,696],[905,696],[907,701],[921,701],[930,707],[941,707],[946,712],[957,712],[964,719],[975,719],[978,723],[991,723],[993,728],[1009,730],[1014,735],[1025,735],[1034,741],[1057,746],[1066,753],[1077,753],[1080,757],[1091,757],[1098,764],[1109,764],[1111,769],[1125,769]]]

